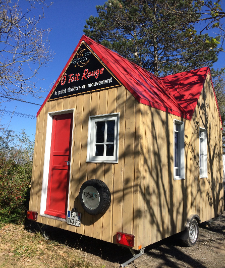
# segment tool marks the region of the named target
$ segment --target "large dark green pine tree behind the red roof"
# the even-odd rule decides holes
[[[96,6],[98,17],[86,20],[83,31],[156,75],[212,66],[219,37],[196,34],[191,22],[201,19],[198,7],[188,0],[166,4],[164,0],[108,0]]]

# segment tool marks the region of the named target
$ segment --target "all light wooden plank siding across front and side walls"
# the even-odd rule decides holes
[[[134,249],[181,232],[191,214],[201,221],[223,211],[221,123],[208,75],[191,121],[138,103],[124,86],[46,102],[37,117],[29,209],[40,211],[47,113],[74,109],[69,207],[81,227],[38,216],[46,223],[116,243],[135,235]],[[87,163],[89,116],[120,113],[119,162]],[[174,119],[184,122],[185,180],[174,180]],[[199,127],[207,131],[208,178],[199,176]],[[102,180],[111,193],[104,215],[90,216],[79,201],[81,185]]]

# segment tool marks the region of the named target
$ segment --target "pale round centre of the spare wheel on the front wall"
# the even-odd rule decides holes
[[[87,186],[82,193],[84,205],[89,209],[95,209],[100,203],[100,196],[96,188]]]

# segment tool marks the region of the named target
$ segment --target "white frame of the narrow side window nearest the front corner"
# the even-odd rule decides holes
[[[179,165],[175,167],[175,132],[176,124],[180,125],[179,133]],[[179,176],[176,176],[176,170],[179,169]],[[184,180],[185,179],[185,152],[184,152],[184,122],[174,119],[174,180]]]

